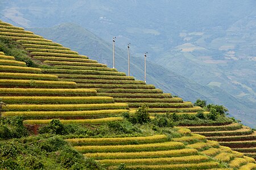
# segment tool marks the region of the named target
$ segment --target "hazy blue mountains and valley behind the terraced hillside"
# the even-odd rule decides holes
[[[148,51],[147,83],[185,100],[203,98],[225,105],[230,114],[255,127],[255,5],[255,1],[16,0],[1,1],[0,11],[109,67],[112,38],[117,36],[117,68],[123,72],[127,72],[126,45],[131,42],[132,76],[143,80],[142,57]]]

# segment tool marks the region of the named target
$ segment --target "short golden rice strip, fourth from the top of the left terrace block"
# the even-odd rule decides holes
[[[11,66],[11,65],[0,65],[1,72],[32,72],[32,73],[41,73],[40,68],[32,68],[32,67],[18,67],[18,66]]]

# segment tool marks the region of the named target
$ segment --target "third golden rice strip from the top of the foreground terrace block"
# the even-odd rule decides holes
[[[84,154],[86,157],[93,157],[94,159],[129,159],[129,158],[145,158],[145,157],[172,157],[197,155],[197,150],[184,148],[181,150],[168,151],[152,151],[152,152],[114,152],[114,153],[89,153]]]

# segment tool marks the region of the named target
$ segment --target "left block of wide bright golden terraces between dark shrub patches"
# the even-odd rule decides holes
[[[43,74],[40,68],[26,67],[13,56],[0,52],[0,98],[6,103],[2,117],[23,115],[30,125],[49,123],[105,123],[121,121],[126,103],[97,96],[96,90],[77,89],[76,82],[61,81]]]

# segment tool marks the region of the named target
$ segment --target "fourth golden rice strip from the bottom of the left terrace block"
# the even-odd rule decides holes
[[[89,96],[89,97],[49,97],[49,96],[3,96],[0,97],[2,101],[6,103],[18,103],[18,102],[72,102],[72,101],[82,101],[84,104],[86,103],[114,103],[114,99],[112,97],[101,97],[101,96]]]

